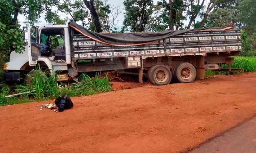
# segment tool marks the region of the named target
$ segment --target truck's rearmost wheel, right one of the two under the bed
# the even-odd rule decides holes
[[[176,68],[175,76],[180,83],[192,83],[196,78],[196,69],[190,63],[181,63]]]

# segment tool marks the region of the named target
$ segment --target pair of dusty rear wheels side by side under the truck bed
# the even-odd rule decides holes
[[[191,83],[196,78],[196,69],[190,63],[179,63],[171,72],[165,65],[156,65],[149,68],[147,78],[154,85],[167,85],[172,78],[180,83]]]

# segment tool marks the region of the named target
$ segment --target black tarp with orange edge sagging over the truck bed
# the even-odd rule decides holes
[[[163,32],[138,32],[138,33],[95,33],[78,25],[75,21],[70,21],[69,26],[76,31],[80,32],[84,36],[87,36],[95,41],[99,41],[104,44],[112,46],[136,46],[149,44],[154,41],[169,38],[171,36],[180,35],[191,31],[163,31]]]

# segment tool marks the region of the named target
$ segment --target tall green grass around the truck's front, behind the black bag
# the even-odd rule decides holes
[[[2,87],[0,106],[54,99],[62,95],[75,97],[112,91],[108,76],[100,77],[99,73],[96,73],[92,78],[86,74],[82,74],[79,77],[80,82],[71,83],[69,85],[60,84],[56,81],[55,75],[40,73],[38,70],[34,70],[33,73],[27,75],[27,77],[29,77],[31,81],[18,85],[14,90],[18,93],[28,93],[20,97],[5,98],[12,90],[8,86]]]

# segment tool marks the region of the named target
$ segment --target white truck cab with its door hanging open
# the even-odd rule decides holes
[[[4,65],[6,81],[17,81],[22,74],[40,67],[51,73],[67,71],[71,64],[71,46],[68,25],[37,27],[31,24],[24,33],[27,42],[22,53],[11,52],[10,62]]]

